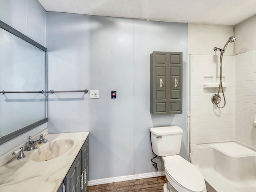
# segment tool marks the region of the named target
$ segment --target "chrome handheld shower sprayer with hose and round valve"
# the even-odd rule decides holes
[[[235,40],[236,40],[236,38],[234,36],[231,36],[230,38],[228,38],[228,41],[224,45],[223,49],[220,49],[218,47],[214,47],[213,48],[214,51],[220,50],[220,85],[219,85],[218,94],[214,94],[212,96],[212,103],[215,104],[218,108],[224,108],[224,106],[226,105],[226,98],[225,98],[223,87],[222,87],[222,58],[223,58],[223,54],[224,54],[224,52],[225,52],[225,50],[226,50],[226,48],[228,46],[228,43],[232,43]],[[218,106],[218,104],[221,101],[220,89],[222,90],[222,94],[223,94],[223,98],[224,98],[224,105],[222,107]]]

